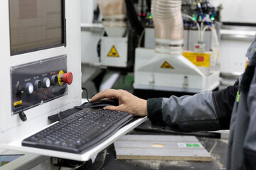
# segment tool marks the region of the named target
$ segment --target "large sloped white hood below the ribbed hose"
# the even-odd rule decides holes
[[[161,64],[164,61],[169,62],[174,69],[161,69]],[[220,72],[215,71],[208,76],[204,76],[199,74],[198,68],[193,70],[196,67],[195,65],[194,67],[188,66],[185,60],[180,60],[171,55],[156,55],[154,50],[137,48],[134,88],[198,93],[212,91],[219,86]],[[186,79],[187,85],[184,84],[184,79]]]

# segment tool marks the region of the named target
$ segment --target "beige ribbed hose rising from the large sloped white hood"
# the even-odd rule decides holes
[[[152,0],[156,52],[181,53],[183,48],[183,20],[181,0]]]

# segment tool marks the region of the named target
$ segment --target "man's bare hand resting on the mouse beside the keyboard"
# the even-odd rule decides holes
[[[118,99],[119,106],[106,106],[105,109],[113,111],[124,111],[131,113],[134,116],[147,115],[146,100],[138,98],[130,94],[128,91],[107,89],[93,96],[90,101],[95,102],[102,98]]]

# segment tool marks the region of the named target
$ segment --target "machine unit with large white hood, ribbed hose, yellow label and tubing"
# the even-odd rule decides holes
[[[214,8],[190,2],[151,1],[154,28],[146,28],[145,47],[136,49],[135,90],[198,93],[219,86]]]

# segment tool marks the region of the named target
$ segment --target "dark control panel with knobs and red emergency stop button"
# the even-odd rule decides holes
[[[66,55],[11,67],[10,72],[12,114],[68,94],[73,81]]]

